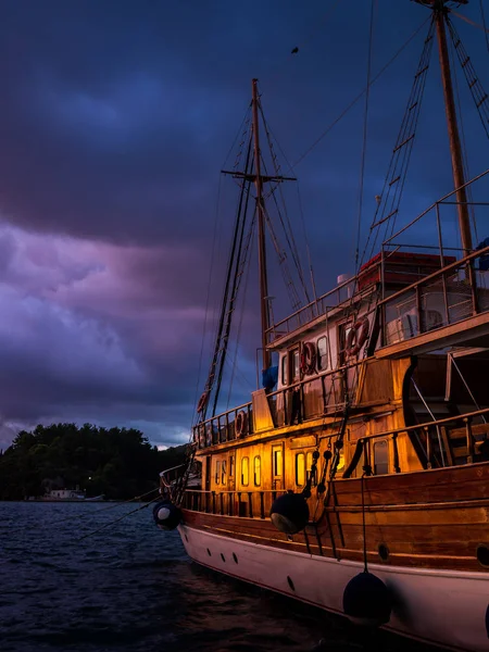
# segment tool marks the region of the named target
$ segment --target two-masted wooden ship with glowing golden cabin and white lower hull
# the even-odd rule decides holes
[[[489,239],[474,243],[469,217],[471,189],[489,179],[489,170],[465,177],[450,38],[479,93],[486,133],[489,106],[454,30],[453,3],[419,3],[431,20],[408,113],[418,111],[435,45],[454,189],[388,233],[354,277],[274,323],[264,188],[284,177],[262,170],[253,80],[246,165],[231,171],[241,212],[215,350],[188,463],[174,481],[161,474],[164,500],[153,514],[162,529],[178,528],[199,564],[360,624],[482,652],[489,649]],[[412,126],[408,120],[401,128],[372,233],[398,211]],[[249,402],[220,412],[248,200],[259,242],[263,383]],[[447,204],[456,211],[459,250],[443,241]],[[421,221],[436,225],[434,248],[399,246],[399,236]],[[196,461],[200,485],[188,482]]]

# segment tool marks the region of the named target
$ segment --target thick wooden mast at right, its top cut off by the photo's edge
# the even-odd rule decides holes
[[[471,221],[468,217],[467,193],[465,188],[464,167],[462,160],[462,146],[460,141],[459,125],[456,121],[455,100],[453,98],[452,75],[450,71],[450,58],[447,47],[446,16],[448,9],[446,4],[449,0],[434,0],[432,10],[435,12],[435,24],[438,37],[438,50],[440,57],[441,79],[443,83],[444,108],[447,113],[448,133],[450,139],[450,152],[452,158],[453,181],[456,191],[456,202],[459,212],[459,228],[462,240],[464,255],[471,253],[473,249]]]

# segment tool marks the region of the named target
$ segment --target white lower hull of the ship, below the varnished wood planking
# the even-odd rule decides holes
[[[179,531],[196,562],[341,615],[344,587],[363,570],[356,562],[228,539],[185,525]],[[368,569],[396,597],[387,629],[451,650],[489,650],[488,575],[378,564]]]

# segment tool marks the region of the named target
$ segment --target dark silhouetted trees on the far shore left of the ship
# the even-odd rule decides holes
[[[159,486],[159,473],[183,464],[186,446],[159,451],[135,428],[91,424],[21,430],[0,452],[0,500],[41,497],[52,489],[125,500]]]

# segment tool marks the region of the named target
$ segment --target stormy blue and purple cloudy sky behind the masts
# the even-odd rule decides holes
[[[158,444],[187,438],[220,170],[251,78],[260,79],[267,120],[293,164],[365,86],[369,4],[1,2],[0,447],[20,427],[59,419],[137,426]],[[376,4],[373,74],[427,17],[408,0]],[[477,10],[473,2],[457,11],[480,23]],[[484,34],[454,20],[489,89]],[[425,34],[372,89],[365,224]],[[432,63],[404,218],[451,189]],[[459,82],[462,88],[462,74]],[[487,166],[488,143],[462,90],[475,174]],[[359,103],[294,170],[321,291],[353,264],[362,120]],[[234,190],[223,179],[224,236]],[[290,218],[303,242],[298,210]],[[237,398],[255,378],[253,314]]]

